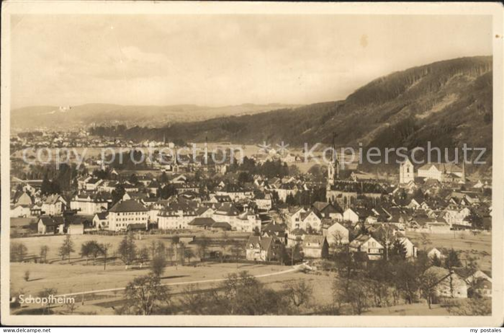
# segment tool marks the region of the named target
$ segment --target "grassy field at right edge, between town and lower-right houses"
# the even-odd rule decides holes
[[[421,233],[407,232],[406,236],[418,244],[419,249],[423,250],[423,245],[420,242]],[[454,235],[449,234],[428,234],[431,244],[426,247],[455,249],[460,251],[460,259],[462,264],[468,256],[475,257],[480,269],[490,270],[492,267],[492,236],[491,234],[480,235]]]

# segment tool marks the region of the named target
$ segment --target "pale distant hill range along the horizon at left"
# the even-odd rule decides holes
[[[217,117],[251,115],[298,104],[241,104],[207,107],[182,105],[84,104],[76,106],[28,106],[13,109],[11,126],[20,129],[74,128],[92,125],[157,127],[160,124],[194,122]]]

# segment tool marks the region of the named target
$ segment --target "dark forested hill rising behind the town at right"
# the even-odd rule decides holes
[[[492,58],[460,58],[411,68],[371,81],[343,101],[310,104],[258,115],[132,128],[135,138],[285,141],[378,147],[492,145]],[[487,157],[491,156],[487,154]]]

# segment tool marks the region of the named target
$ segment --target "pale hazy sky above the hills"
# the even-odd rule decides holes
[[[308,104],[491,54],[489,16],[13,16],[11,106]]]

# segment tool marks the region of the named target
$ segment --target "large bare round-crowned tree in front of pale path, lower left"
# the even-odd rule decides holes
[[[139,276],[128,284],[124,290],[125,304],[122,313],[134,315],[151,315],[161,304],[170,302],[169,289],[161,285],[158,275]]]

